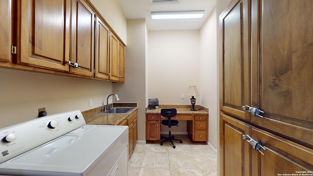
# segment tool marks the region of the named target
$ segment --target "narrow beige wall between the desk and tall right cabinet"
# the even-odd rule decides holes
[[[209,143],[218,148],[218,93],[217,93],[217,53],[216,53],[216,8],[203,24],[200,30],[200,91],[201,105],[209,108]]]

